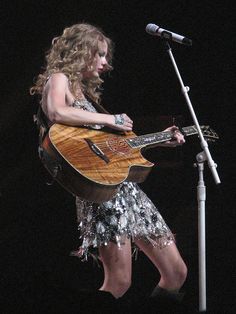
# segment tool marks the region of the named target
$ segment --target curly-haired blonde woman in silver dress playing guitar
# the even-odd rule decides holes
[[[70,126],[108,126],[131,131],[132,119],[122,114],[109,114],[100,103],[101,74],[110,71],[112,42],[89,24],[65,28],[52,41],[46,55],[45,71],[38,76],[31,94],[41,96],[41,108],[48,126],[62,123]],[[184,138],[176,127],[170,127],[174,140],[166,145],[179,145]],[[97,248],[104,269],[101,291],[120,298],[131,285],[131,242],[143,251],[160,273],[152,296],[177,296],[187,269],[174,242],[174,236],[157,208],[135,183],[124,182],[117,195],[102,204],[76,197],[80,250],[85,258]]]

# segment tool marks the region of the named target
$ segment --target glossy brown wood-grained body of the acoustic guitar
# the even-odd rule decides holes
[[[111,199],[122,182],[143,182],[151,171],[153,163],[126,141],[134,137],[133,132],[54,124],[42,143],[42,161],[69,192],[100,203]]]

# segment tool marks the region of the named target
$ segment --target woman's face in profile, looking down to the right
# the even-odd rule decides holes
[[[96,52],[90,69],[83,73],[83,78],[99,77],[104,71],[106,71],[107,65],[107,43],[106,41],[100,41],[98,43],[98,51]]]

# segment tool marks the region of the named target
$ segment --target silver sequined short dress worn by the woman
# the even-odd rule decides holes
[[[73,107],[96,112],[88,100],[75,100]],[[100,125],[90,126],[101,128]],[[85,260],[92,249],[107,245],[110,241],[122,243],[144,239],[154,246],[163,248],[174,241],[174,236],[153,202],[138,184],[123,182],[117,194],[102,204],[76,197],[78,230],[82,244],[72,255]]]

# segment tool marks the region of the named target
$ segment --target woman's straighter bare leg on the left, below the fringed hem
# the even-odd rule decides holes
[[[103,263],[104,282],[100,290],[108,291],[115,298],[120,298],[131,284],[131,244],[126,239],[121,248],[110,242],[99,248],[100,259]]]

